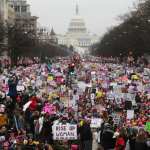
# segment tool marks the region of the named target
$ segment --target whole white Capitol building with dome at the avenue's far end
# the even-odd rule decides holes
[[[73,46],[80,53],[87,52],[89,47],[98,42],[99,37],[87,31],[84,19],[79,15],[79,7],[76,5],[76,15],[71,19],[68,31],[65,35],[57,35],[58,44]]]

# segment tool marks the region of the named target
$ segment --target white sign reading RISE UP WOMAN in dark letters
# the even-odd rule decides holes
[[[76,140],[77,125],[54,125],[53,140]]]

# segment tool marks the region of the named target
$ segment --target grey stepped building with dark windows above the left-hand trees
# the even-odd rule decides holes
[[[15,10],[17,26],[23,27],[26,32],[37,31],[38,17],[32,16],[30,12],[30,5],[26,0],[9,0],[9,6]]]

